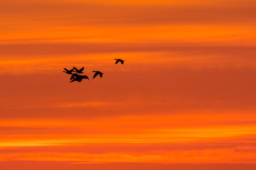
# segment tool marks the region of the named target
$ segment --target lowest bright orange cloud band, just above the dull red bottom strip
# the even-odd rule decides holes
[[[250,149],[250,152],[246,150]],[[205,150],[174,150],[172,152],[148,153],[57,153],[31,152],[0,154],[1,161],[58,161],[73,162],[73,164],[107,163],[107,162],[134,162],[160,164],[200,164],[200,163],[240,163],[253,164],[256,159],[255,147],[236,147],[232,149],[205,149]],[[213,157],[214,155],[214,157]],[[248,157],[250,156],[250,157]],[[247,157],[245,159],[245,157]]]

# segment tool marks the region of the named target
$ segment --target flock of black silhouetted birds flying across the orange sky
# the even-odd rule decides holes
[[[121,64],[124,64],[124,60],[121,60],[121,59],[114,59],[114,60],[117,60],[115,62],[115,64],[117,64],[118,62],[121,62]],[[65,68],[64,68],[65,69]],[[83,72],[83,70],[85,69],[85,67],[82,67],[82,69],[77,69],[75,67],[73,67],[73,69],[65,69],[65,72],[66,74],[72,74],[72,76],[70,77],[70,83],[72,83],[73,81],[78,81],[78,82],[81,82],[82,79],[88,79],[89,80],[89,77],[85,76],[85,75],[81,75]],[[94,76],[92,77],[92,79],[94,79],[95,77],[97,77],[97,75],[100,75],[100,77],[102,77],[103,73],[100,72],[100,71],[92,71],[92,72],[95,72]]]

